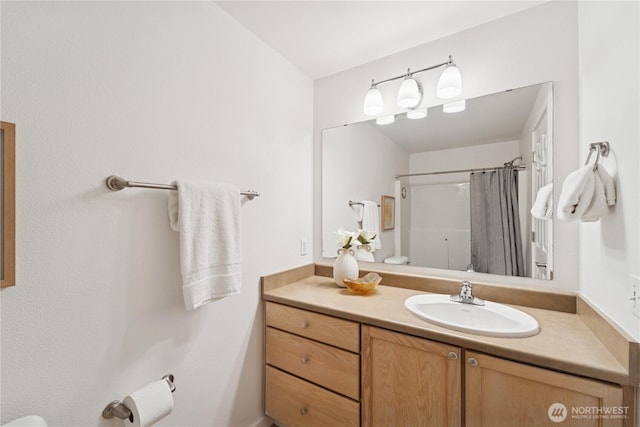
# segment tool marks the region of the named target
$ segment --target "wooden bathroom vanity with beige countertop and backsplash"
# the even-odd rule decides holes
[[[279,424],[634,425],[639,343],[578,295],[476,286],[541,329],[496,338],[405,310],[406,298],[454,293],[456,281],[378,271],[382,285],[360,296],[330,272],[310,265],[262,278],[265,412]]]

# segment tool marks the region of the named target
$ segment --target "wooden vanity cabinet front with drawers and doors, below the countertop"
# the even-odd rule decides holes
[[[265,348],[265,411],[287,427],[633,424],[619,385],[272,302]]]

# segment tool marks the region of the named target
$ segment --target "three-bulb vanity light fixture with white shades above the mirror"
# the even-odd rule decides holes
[[[371,87],[364,98],[363,111],[368,116],[377,116],[382,113],[383,101],[382,94],[378,89],[378,86],[384,83],[389,83],[394,80],[404,79],[400,90],[398,91],[397,103],[400,108],[413,109],[420,105],[422,102],[422,86],[413,76],[424,71],[433,70],[436,68],[445,67],[444,71],[440,75],[438,80],[438,86],[436,94],[440,98],[449,99],[454,98],[462,93],[462,76],[456,64],[453,63],[453,58],[449,55],[449,60],[441,64],[433,65],[431,67],[423,68],[418,71],[411,72],[407,69],[407,72],[401,76],[391,77],[386,80],[381,80],[376,83],[375,80],[371,80]]]

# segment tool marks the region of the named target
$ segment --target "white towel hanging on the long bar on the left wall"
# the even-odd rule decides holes
[[[230,184],[174,181],[171,228],[180,232],[187,310],[240,292],[240,190]]]

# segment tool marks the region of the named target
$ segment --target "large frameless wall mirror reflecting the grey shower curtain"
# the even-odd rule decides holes
[[[336,256],[336,230],[363,228],[362,203],[391,196],[376,262],[552,279],[551,209],[531,213],[552,188],[552,83],[443,110],[322,132],[323,257]]]

